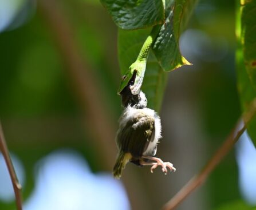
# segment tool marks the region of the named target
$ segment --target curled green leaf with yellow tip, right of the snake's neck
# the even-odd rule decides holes
[[[176,1],[175,3],[173,0],[166,0],[166,22],[161,27],[153,45],[153,52],[165,71],[174,70],[182,65],[190,65],[190,62],[180,53],[179,37],[195,2]]]

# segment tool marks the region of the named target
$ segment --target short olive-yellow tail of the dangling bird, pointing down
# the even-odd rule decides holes
[[[129,160],[131,160],[131,158],[131,153],[119,152],[116,159],[116,163],[113,168],[113,175],[115,179],[120,179],[122,171],[125,168],[125,165],[129,162]]]

